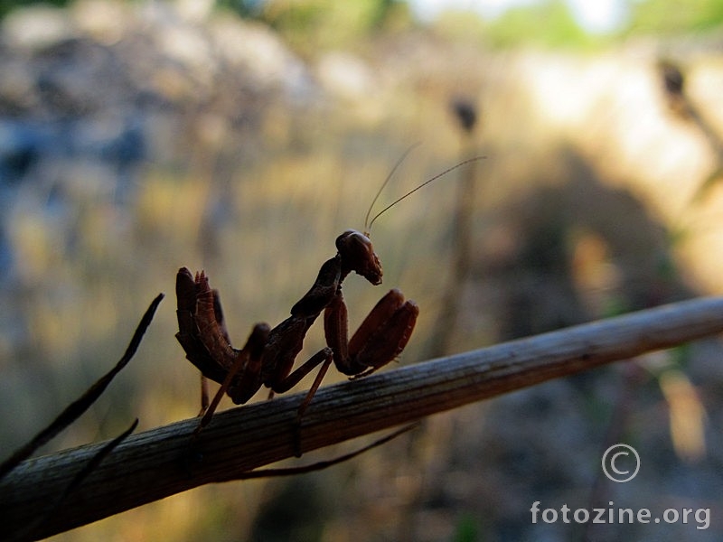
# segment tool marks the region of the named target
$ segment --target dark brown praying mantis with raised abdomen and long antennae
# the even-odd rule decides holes
[[[371,313],[348,338],[347,307],[342,294],[343,280],[352,272],[363,276],[371,285],[381,284],[380,259],[371,244],[371,225],[380,215],[429,182],[481,157],[465,160],[420,184],[380,210],[370,221],[371,208],[408,149],[395,164],[367,212],[364,233],[349,229],[336,238],[336,255],[324,262],[314,285],[292,308],[291,315],[276,327],[257,323],[240,350],[231,346],[224,322],[218,291],[211,289],[203,271],[195,276],[185,267],[176,275],[178,299],[178,333],[186,358],[202,372],[202,378],[221,384],[211,404],[202,398],[202,416],[194,435],[211,421],[221,398],[228,394],[237,405],[246,403],[262,386],[269,388],[269,397],[294,388],[298,382],[321,365],[315,380],[297,410],[301,419],[324,375],[333,363],[350,378],[362,378],[395,360],[404,350],[414,330],[419,309],[405,300],[398,289],[384,295]],[[302,350],[306,332],[324,312],[326,347],[294,369],[296,356]],[[202,393],[202,396],[204,394]]]

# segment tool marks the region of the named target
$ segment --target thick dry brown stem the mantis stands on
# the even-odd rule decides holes
[[[406,424],[514,389],[723,332],[723,297],[703,298],[387,370],[320,390],[303,418],[304,452]],[[241,479],[292,457],[302,395],[214,416],[191,448],[196,419],[132,435],[67,496],[39,537],[202,484]],[[4,539],[68,487],[104,444],[28,460],[0,481]]]

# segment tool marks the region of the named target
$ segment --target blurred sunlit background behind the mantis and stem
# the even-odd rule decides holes
[[[42,453],[194,416],[178,267],[211,276],[239,346],[286,317],[417,143],[377,209],[486,158],[374,224],[383,286],[344,283],[352,327],[388,287],[418,302],[401,364],[723,293],[719,0],[18,0],[0,15],[4,457],[115,363],[158,292],[136,359]],[[719,540],[722,353],[699,341],[596,369],[325,472],[202,487],[55,539]],[[617,441],[643,468],[606,485]],[[710,524],[532,525],[536,500],[709,508]]]

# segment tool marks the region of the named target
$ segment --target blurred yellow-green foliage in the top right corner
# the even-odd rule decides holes
[[[723,24],[720,0],[640,0],[631,3],[630,33],[700,33]]]

